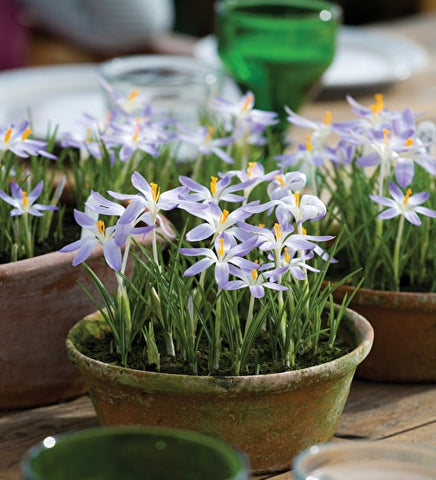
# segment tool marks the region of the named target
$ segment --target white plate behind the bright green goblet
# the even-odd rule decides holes
[[[197,42],[194,56],[220,65],[217,42],[208,35]],[[335,59],[323,77],[325,90],[367,88],[404,80],[430,63],[419,44],[367,27],[341,27]]]

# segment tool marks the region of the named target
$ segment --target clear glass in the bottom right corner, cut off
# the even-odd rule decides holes
[[[394,441],[327,442],[294,460],[295,480],[434,480],[436,449]]]

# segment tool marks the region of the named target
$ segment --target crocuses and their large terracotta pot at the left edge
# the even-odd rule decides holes
[[[134,101],[132,96],[123,105]],[[125,134],[127,117],[119,104],[111,115],[111,128]],[[117,188],[135,169],[151,171],[155,145],[171,138],[169,122],[162,120],[154,137],[134,138],[133,130],[122,149],[104,142],[108,125],[90,115],[82,122],[65,136],[49,132],[47,141],[32,138],[27,120],[0,128],[0,409],[45,405],[85,391],[67,357],[65,336],[94,310],[82,289],[92,282],[71,265],[72,254],[57,250],[79,234],[73,207],[91,186]],[[167,161],[163,149],[159,158]],[[112,279],[101,258],[96,249],[89,261]]]

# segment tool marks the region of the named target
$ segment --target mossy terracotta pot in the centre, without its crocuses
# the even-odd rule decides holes
[[[245,452],[253,473],[289,469],[294,455],[333,436],[356,367],[373,339],[369,323],[350,310],[341,334],[355,348],[339,359],[292,372],[213,377],[126,369],[83,355],[76,345],[102,328],[96,314],[80,321],[67,338],[102,425],[161,425],[210,434]]]

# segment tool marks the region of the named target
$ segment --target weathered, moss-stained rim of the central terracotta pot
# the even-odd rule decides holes
[[[201,387],[203,393],[229,395],[240,392],[254,392],[262,390],[266,386],[268,390],[274,392],[289,391],[298,389],[301,383],[307,385],[322,383],[326,378],[341,377],[350,369],[350,364],[357,366],[368,355],[374,340],[374,331],[370,323],[360,314],[347,309],[343,322],[349,322],[356,330],[354,339],[356,348],[351,352],[330,362],[326,362],[313,367],[307,367],[300,370],[292,370],[275,374],[245,375],[245,376],[202,376],[202,375],[182,375],[161,372],[148,372],[144,370],[135,370],[123,368],[117,365],[111,365],[99,360],[92,359],[81,353],[73,343],[72,336],[80,328],[80,324],[86,320],[98,319],[98,312],[85,317],[76,324],[68,334],[66,345],[70,358],[80,361],[82,367],[92,375],[100,377],[102,380],[116,377],[117,381],[123,385],[138,385],[138,380],[143,379],[147,384],[148,391],[163,391],[168,388],[169,392],[176,393],[177,390],[186,393],[192,388],[197,391]],[[82,372],[83,373],[83,372]],[[132,382],[129,379],[132,379]],[[165,382],[162,380],[165,379]],[[174,381],[171,382],[170,380]],[[178,385],[181,385],[179,388]],[[291,387],[292,386],[292,387]]]

